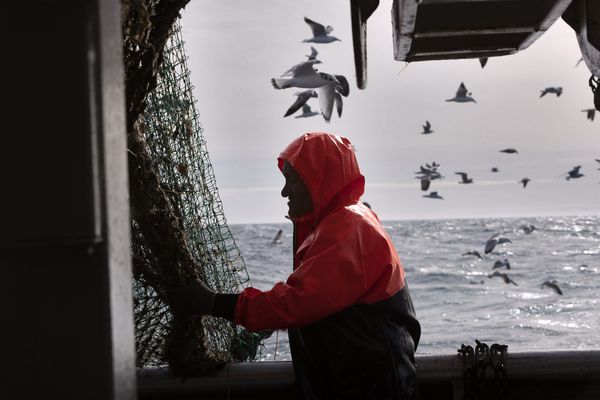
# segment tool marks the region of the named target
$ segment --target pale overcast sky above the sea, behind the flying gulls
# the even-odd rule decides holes
[[[592,108],[590,72],[575,33],[558,20],[528,49],[490,58],[395,61],[391,0],[368,21],[368,86],[356,87],[350,2],[202,0],[183,12],[183,37],[194,95],[230,223],[284,222],[286,202],[276,157],[304,132],[346,136],[366,177],[365,201],[383,220],[600,213],[600,116]],[[307,16],[334,27],[341,42],[315,45],[319,70],[351,84],[342,118],[282,118],[295,88],[270,79],[306,59]],[[446,102],[460,82],[477,104]],[[560,97],[540,90],[561,86]],[[313,108],[318,101],[313,100]],[[422,135],[429,120],[434,133]],[[499,150],[514,147],[519,154]],[[414,171],[436,161],[444,200],[422,198]],[[583,178],[564,173],[582,165]],[[492,173],[496,166],[500,172]],[[458,184],[456,171],[475,183]],[[531,182],[523,189],[523,177]]]

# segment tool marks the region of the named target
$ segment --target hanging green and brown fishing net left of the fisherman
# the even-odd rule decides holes
[[[124,4],[124,61],[137,364],[192,374],[255,359],[262,337],[170,306],[182,280],[222,293],[249,283],[195,109],[177,19],[186,3]]]

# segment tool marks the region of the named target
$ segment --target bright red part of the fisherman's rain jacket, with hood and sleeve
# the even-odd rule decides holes
[[[404,269],[364,192],[354,150],[343,137],[307,133],[279,156],[308,188],[313,211],[294,219],[294,270],[286,282],[238,297],[234,322],[249,330],[301,327],[404,288]]]

